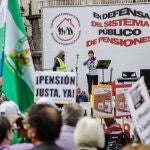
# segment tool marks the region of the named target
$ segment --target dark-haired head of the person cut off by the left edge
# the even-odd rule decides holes
[[[0,145],[10,143],[12,137],[11,128],[8,118],[0,116]]]

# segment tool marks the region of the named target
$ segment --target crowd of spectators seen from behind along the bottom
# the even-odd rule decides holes
[[[115,118],[105,118],[107,128],[103,129],[100,120],[84,116],[79,103],[65,104],[60,110],[49,99],[41,98],[25,115],[18,108],[11,114],[5,111],[0,115],[0,150],[150,149],[140,138],[137,142],[137,133],[133,140],[127,130],[118,127]],[[15,132],[24,140],[12,144]]]

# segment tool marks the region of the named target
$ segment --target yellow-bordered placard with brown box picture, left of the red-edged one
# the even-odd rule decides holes
[[[93,116],[112,117],[112,87],[111,85],[93,85]]]

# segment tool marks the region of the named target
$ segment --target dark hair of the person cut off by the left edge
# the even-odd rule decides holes
[[[11,124],[5,116],[0,116],[0,143],[7,136],[7,132],[11,130]]]

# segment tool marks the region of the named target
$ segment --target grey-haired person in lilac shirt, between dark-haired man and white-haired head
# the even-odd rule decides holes
[[[75,126],[84,115],[82,107],[78,103],[66,104],[62,110],[63,126],[59,139],[56,143],[65,150],[75,150],[77,146],[74,142]]]

